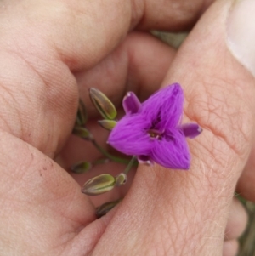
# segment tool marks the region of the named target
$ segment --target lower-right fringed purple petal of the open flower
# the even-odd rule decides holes
[[[150,158],[165,168],[189,169],[190,152],[184,134],[173,129],[161,140],[155,139]]]

